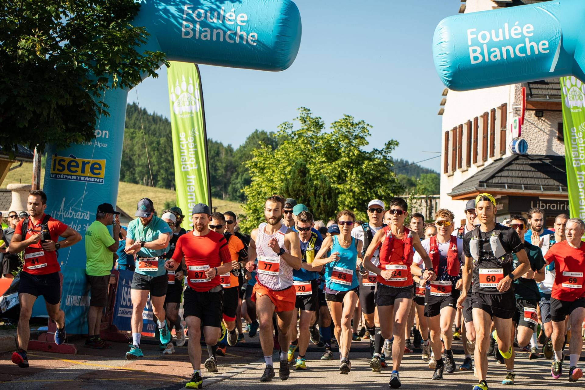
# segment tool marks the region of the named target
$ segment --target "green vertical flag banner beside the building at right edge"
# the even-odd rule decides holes
[[[571,218],[585,219],[585,85],[573,76],[561,77],[560,94],[569,211]]]

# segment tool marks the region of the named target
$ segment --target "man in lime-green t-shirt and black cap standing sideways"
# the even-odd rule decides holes
[[[102,203],[95,213],[95,221],[85,230],[85,274],[90,284],[90,310],[87,313],[87,340],[85,346],[104,349],[111,347],[99,337],[99,324],[102,311],[108,304],[109,275],[113,267],[114,253],[118,250],[118,241],[109,233],[108,226],[113,225],[113,236],[120,233],[119,212],[109,203]],[[114,221],[115,216],[115,221]]]

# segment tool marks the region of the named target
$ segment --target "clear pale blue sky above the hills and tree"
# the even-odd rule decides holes
[[[420,161],[440,151],[443,85],[432,61],[435,26],[459,1],[297,0],[297,59],[283,72],[201,65],[209,138],[238,147],[254,129],[276,131],[305,106],[327,125],[343,114],[373,126],[370,146]],[[168,118],[166,69],[137,87],[140,106]],[[136,102],[130,91],[128,102]],[[440,158],[421,163],[439,170]]]

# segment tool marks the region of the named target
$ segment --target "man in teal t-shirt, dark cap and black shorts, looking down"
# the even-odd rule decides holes
[[[171,340],[168,331],[164,298],[167,295],[167,271],[164,269],[166,258],[163,255],[170,246],[173,230],[168,223],[154,215],[154,205],[149,198],[138,201],[135,216],[138,218],[128,224],[126,253],[136,255],[136,269],[130,286],[132,298],[132,347],[126,359],[143,357],[140,349],[142,332],[142,310],[150,292],[153,313],[157,313],[160,343],[167,345]]]

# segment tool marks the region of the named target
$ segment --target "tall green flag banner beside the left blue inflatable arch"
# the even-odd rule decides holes
[[[170,64],[168,98],[177,205],[185,215],[183,227],[190,230],[193,206],[201,202],[211,208],[203,91],[197,65],[177,61]]]

